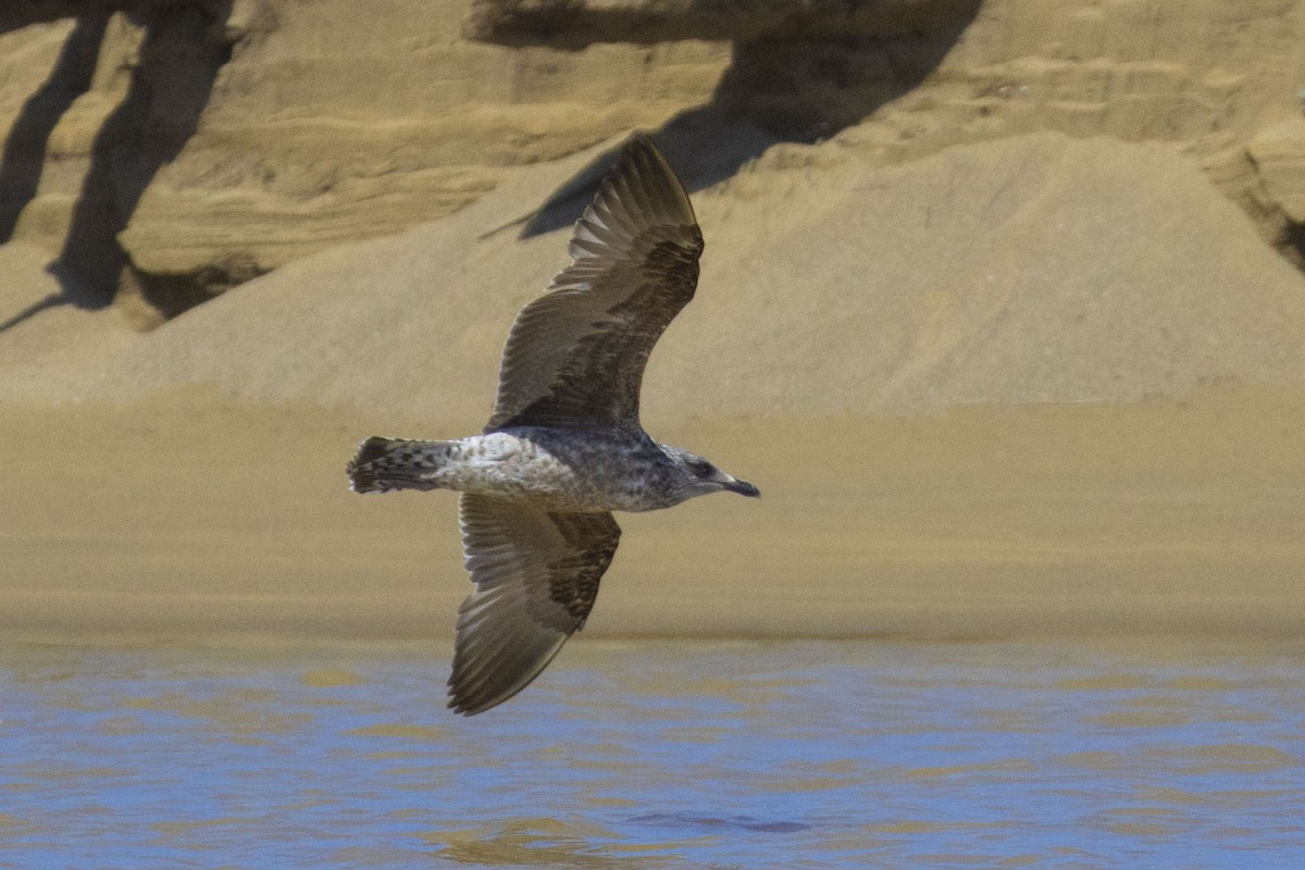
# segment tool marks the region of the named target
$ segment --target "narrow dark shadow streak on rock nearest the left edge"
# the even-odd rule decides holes
[[[78,18],[50,77],[27,98],[0,153],[0,244],[13,237],[18,217],[37,196],[50,134],[78,97],[90,89],[108,14]]]

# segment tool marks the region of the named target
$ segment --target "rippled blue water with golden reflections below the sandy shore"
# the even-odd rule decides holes
[[[0,652],[3,867],[1298,867],[1305,646]]]

